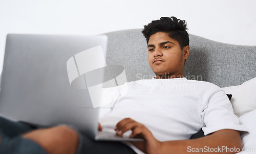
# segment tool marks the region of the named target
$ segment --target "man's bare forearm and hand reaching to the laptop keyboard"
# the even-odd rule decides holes
[[[132,142],[145,153],[237,153],[241,149],[240,133],[220,130],[202,138],[160,142],[141,123],[125,118],[117,123],[117,135],[132,130],[130,137],[142,137],[144,142]],[[200,149],[201,148],[201,149]]]

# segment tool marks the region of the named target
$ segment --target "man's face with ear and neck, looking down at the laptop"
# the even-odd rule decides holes
[[[189,46],[181,49],[178,41],[163,32],[151,35],[147,45],[148,62],[157,78],[179,78],[184,76],[184,61],[188,57]]]

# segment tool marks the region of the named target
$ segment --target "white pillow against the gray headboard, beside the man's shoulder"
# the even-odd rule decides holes
[[[239,86],[222,88],[227,94],[232,94],[231,104],[234,114],[238,117],[256,109],[256,78]]]

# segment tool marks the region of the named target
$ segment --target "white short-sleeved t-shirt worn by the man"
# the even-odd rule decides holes
[[[246,131],[226,93],[208,82],[153,78],[119,89],[112,111],[99,118],[103,130],[113,131],[120,120],[129,117],[144,124],[159,141],[189,139],[202,127],[205,135],[222,129]]]

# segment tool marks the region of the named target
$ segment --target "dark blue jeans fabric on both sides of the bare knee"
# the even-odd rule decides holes
[[[14,122],[0,117],[0,154],[2,153],[37,153],[45,154],[46,151],[36,142],[24,139],[22,134],[39,129],[40,126],[25,122]],[[79,134],[79,147],[77,153],[135,153],[129,146],[120,142],[94,141],[86,135]]]

